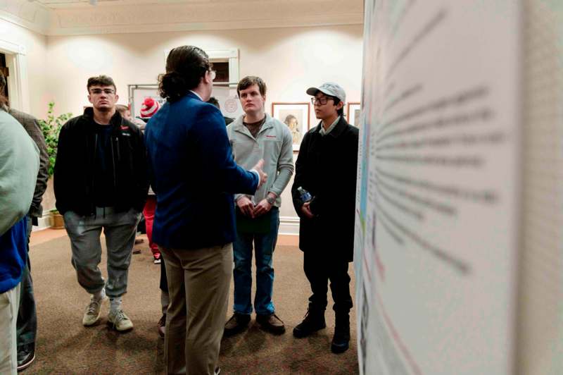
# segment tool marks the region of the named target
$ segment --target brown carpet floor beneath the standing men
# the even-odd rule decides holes
[[[68,238],[32,246],[38,338],[37,359],[25,370],[26,374],[163,373],[163,340],[156,331],[160,318],[160,268],[153,264],[146,240],[136,248],[142,252],[133,255],[128,293],[123,298],[123,308],[135,328],[129,333],[117,333],[106,325],[107,302],[99,325],[82,326],[89,296],[78,285],[70,265]],[[106,264],[105,259],[104,247],[101,264]],[[253,316],[248,331],[223,340],[222,374],[357,374],[355,309],[350,314],[350,350],[341,355],[330,352],[334,332],[331,309],[327,310],[326,329],[310,338],[293,338],[291,330],[303,319],[310,293],[303,274],[303,254],[296,247],[279,246],[274,267],[274,304],[287,331],[282,336],[272,336],[258,328]],[[105,269],[102,272],[106,274]],[[351,264],[349,272],[353,276]],[[353,293],[353,282],[350,287]]]

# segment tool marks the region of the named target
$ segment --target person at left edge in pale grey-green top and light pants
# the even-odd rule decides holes
[[[25,216],[39,171],[39,150],[7,111],[0,92],[0,374],[18,373],[16,323],[27,258]]]

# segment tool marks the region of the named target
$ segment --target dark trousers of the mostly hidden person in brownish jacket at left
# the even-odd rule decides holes
[[[32,229],[32,217],[27,215],[27,252],[30,252],[30,235]],[[33,281],[31,278],[30,257],[27,256],[27,264],[23,270],[22,283],[20,286],[20,309],[18,310],[18,321],[16,322],[16,341],[18,348],[35,343],[37,336],[37,314],[35,312],[35,298],[33,296]]]

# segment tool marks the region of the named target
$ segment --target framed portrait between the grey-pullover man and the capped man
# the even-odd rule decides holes
[[[309,103],[272,103],[272,117],[286,124],[293,137],[293,151],[299,151],[303,135],[309,130]]]

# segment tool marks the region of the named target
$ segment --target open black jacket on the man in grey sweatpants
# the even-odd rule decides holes
[[[61,128],[53,181],[56,207],[61,214],[74,211],[89,216],[96,211],[93,190],[98,137],[94,125],[94,110],[87,108],[82,116],[71,118]],[[148,191],[143,134],[117,111],[110,126],[115,209],[140,212]]]

